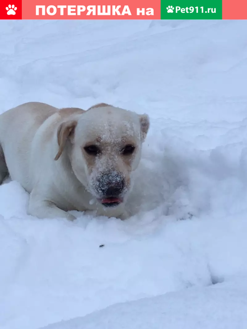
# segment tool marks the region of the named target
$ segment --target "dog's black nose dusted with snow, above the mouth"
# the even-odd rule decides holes
[[[98,179],[98,190],[105,197],[117,197],[124,190],[124,178],[116,171],[107,172]]]

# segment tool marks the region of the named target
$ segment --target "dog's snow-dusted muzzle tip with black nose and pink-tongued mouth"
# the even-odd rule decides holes
[[[116,207],[123,202],[124,178],[117,171],[101,174],[97,179],[97,191],[102,195],[98,201],[105,207]]]

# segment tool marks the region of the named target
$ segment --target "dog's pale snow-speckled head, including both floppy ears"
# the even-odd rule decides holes
[[[131,173],[140,162],[149,125],[146,114],[96,105],[60,125],[55,160],[69,138],[69,158],[77,179],[103,206],[117,206],[132,186]]]

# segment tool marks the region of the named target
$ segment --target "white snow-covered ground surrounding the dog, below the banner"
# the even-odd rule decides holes
[[[1,329],[247,327],[246,29],[0,21],[0,112],[107,102],[151,118],[126,221],[39,220],[17,182],[0,187]]]

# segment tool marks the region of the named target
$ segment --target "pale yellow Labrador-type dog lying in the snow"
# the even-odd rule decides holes
[[[147,114],[100,103],[88,110],[29,102],[0,115],[0,184],[30,193],[28,214],[71,210],[126,219],[126,199],[150,127]]]

